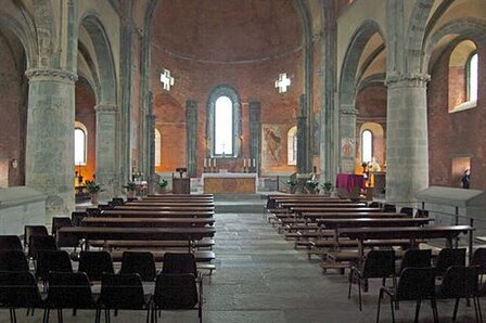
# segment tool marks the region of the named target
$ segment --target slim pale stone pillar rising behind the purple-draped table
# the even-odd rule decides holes
[[[341,148],[338,172],[354,173],[356,167],[356,108],[354,105],[341,105],[338,145]]]

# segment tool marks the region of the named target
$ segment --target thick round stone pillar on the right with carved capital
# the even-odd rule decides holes
[[[429,186],[429,75],[388,77],[386,201],[414,202]]]

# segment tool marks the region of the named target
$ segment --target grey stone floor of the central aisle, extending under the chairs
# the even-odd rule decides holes
[[[347,299],[347,279],[337,273],[322,275],[318,262],[307,260],[304,250],[295,250],[261,214],[218,214],[215,253],[217,270],[205,277],[204,322],[374,322],[378,284],[371,283],[363,295],[363,311],[358,309],[357,289]],[[148,287],[150,288],[150,287]],[[450,322],[452,301],[439,301],[440,322]],[[411,322],[414,303],[401,302],[397,322]],[[40,322],[41,311],[20,322]],[[79,311],[65,322],[93,322],[91,311]],[[113,316],[113,315],[112,315]],[[143,312],[120,311],[112,322],[144,322]],[[474,322],[473,308],[461,301],[457,322]],[[51,316],[51,322],[55,322]],[[391,322],[387,303],[381,322]],[[0,311],[0,322],[9,322],[9,312]],[[164,312],[161,322],[197,322],[195,311]],[[424,302],[420,322],[432,322],[432,310]]]

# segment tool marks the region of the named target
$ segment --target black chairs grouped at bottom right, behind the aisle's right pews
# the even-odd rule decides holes
[[[457,314],[457,307],[459,298],[463,297],[470,297],[471,293],[478,293],[478,283],[477,279],[479,275],[486,273],[486,248],[478,248],[473,255],[472,259],[472,267],[464,267],[465,264],[465,248],[444,248],[439,251],[437,259],[435,261],[434,267],[432,267],[432,250],[430,249],[408,249],[406,250],[404,255],[404,259],[401,261],[401,264],[399,267],[399,270],[396,271],[395,268],[395,251],[394,250],[371,250],[368,253],[367,258],[364,259],[361,267],[351,267],[351,270],[349,272],[349,287],[348,287],[348,298],[350,298],[350,292],[351,292],[351,283],[354,281],[358,282],[358,292],[359,292],[359,309],[362,309],[361,303],[361,283],[364,285],[364,290],[368,290],[368,280],[369,279],[382,279],[382,289],[380,292],[380,298],[382,298],[383,294],[391,295],[391,299],[393,300],[396,293],[399,293],[404,287],[397,287],[395,292],[391,292],[392,289],[388,289],[385,287],[385,281],[386,279],[393,279],[393,286],[397,286],[396,284],[396,277],[398,276],[400,281],[402,281],[402,286],[408,286],[408,284],[412,284],[410,280],[413,280],[414,277],[411,277],[410,275],[412,273],[417,273],[418,275],[426,275],[430,274],[433,276],[434,281],[436,277],[443,279],[443,284],[439,287],[439,292],[436,295],[434,292],[434,297],[440,297],[440,298],[457,298],[457,303],[455,308],[453,318],[456,318]],[[409,268],[425,268],[427,269],[426,272],[421,272],[418,270],[411,271],[411,273],[405,274]],[[457,269],[461,268],[461,269]],[[473,269],[471,269],[473,268]],[[452,269],[452,270],[451,270]],[[465,271],[463,273],[462,277],[465,280],[465,277],[469,275],[471,276],[471,273],[469,271],[475,271],[475,281],[462,281],[460,284],[463,284],[463,286],[472,286],[469,288],[468,293],[463,292],[463,289],[458,289],[457,292],[461,292],[459,294],[453,294],[455,286],[451,284],[458,284],[458,271],[462,270]],[[404,281],[405,280],[405,281]],[[418,279],[417,282],[420,282],[420,279]],[[425,281],[426,282],[426,281]],[[398,283],[400,285],[400,283]],[[407,288],[409,288],[408,286]],[[411,287],[410,287],[411,288]],[[434,287],[435,288],[435,287]],[[483,288],[484,289],[484,288]],[[483,294],[486,294],[486,289],[484,289]],[[410,290],[406,292],[409,293]],[[447,292],[447,293],[446,293]],[[400,292],[401,293],[401,292]],[[404,292],[405,293],[405,292]],[[468,296],[461,296],[461,295],[468,295]],[[398,296],[398,298],[400,298]],[[474,303],[476,306],[476,302]],[[420,309],[420,303],[418,302],[418,311]],[[433,303],[433,309],[435,309],[435,302]],[[476,308],[475,308],[476,309]],[[477,307],[477,310],[481,308]],[[435,318],[436,312],[434,312]],[[477,319],[476,314],[476,319]],[[418,319],[418,312],[417,316]]]

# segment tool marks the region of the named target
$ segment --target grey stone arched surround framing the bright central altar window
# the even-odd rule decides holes
[[[220,96],[227,96],[232,103],[232,152],[230,156],[238,157],[240,153],[238,151],[238,140],[241,135],[241,100],[236,90],[230,86],[218,86],[209,94],[207,100],[207,111],[206,111],[206,144],[208,145],[209,156],[216,156],[215,151],[215,112],[216,112],[216,100]]]

